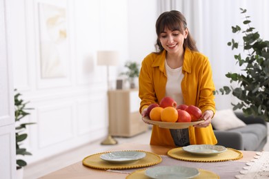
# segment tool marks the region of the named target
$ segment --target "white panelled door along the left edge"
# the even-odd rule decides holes
[[[0,0],[0,178],[16,178],[14,94],[8,0]]]

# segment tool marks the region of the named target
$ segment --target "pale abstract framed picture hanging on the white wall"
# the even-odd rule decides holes
[[[66,8],[39,3],[41,78],[67,76],[68,34]]]

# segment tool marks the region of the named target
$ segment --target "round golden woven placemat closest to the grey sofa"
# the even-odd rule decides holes
[[[221,154],[217,154],[215,156],[202,156],[197,154],[191,154],[187,151],[183,151],[182,147],[170,149],[167,154],[168,156],[177,160],[184,160],[189,162],[224,162],[228,160],[238,160],[243,157],[241,151],[230,148],[227,148],[226,151],[223,151]]]

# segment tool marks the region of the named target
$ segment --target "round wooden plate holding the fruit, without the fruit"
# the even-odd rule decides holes
[[[205,121],[205,120],[199,120],[199,121],[190,122],[190,123],[168,123],[168,122],[150,120],[148,116],[143,117],[143,120],[146,123],[150,123],[152,125],[158,125],[159,127],[166,128],[166,129],[185,129],[185,128],[188,128],[189,126],[197,125]]]

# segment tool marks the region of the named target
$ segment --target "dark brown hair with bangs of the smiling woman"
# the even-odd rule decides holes
[[[156,21],[156,33],[157,33],[157,43],[155,47],[157,49],[157,53],[160,53],[164,50],[161,42],[159,41],[159,36],[161,32],[165,28],[169,30],[179,30],[181,34],[187,28],[187,21],[183,14],[177,10],[171,10],[169,12],[163,12]],[[194,50],[198,52],[197,46],[195,45],[195,40],[192,39],[190,32],[188,32],[187,39],[184,40],[183,48],[190,48],[190,50]]]

